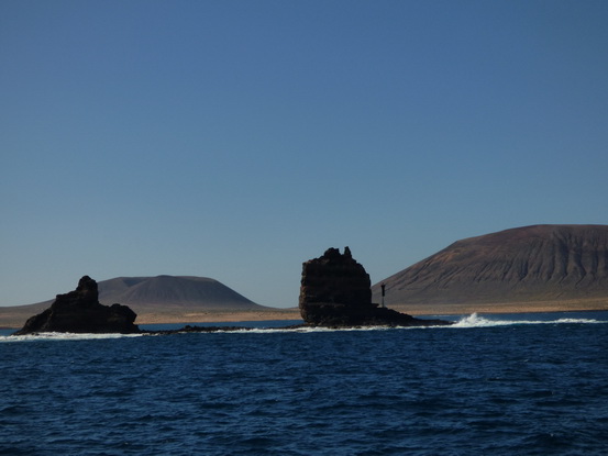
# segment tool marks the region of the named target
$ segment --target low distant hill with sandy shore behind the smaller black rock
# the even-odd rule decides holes
[[[206,277],[118,277],[100,281],[98,287],[99,302],[129,305],[137,314],[137,324],[299,318],[294,310],[256,304]],[[0,307],[0,326],[21,327],[27,318],[42,312],[53,301]]]

